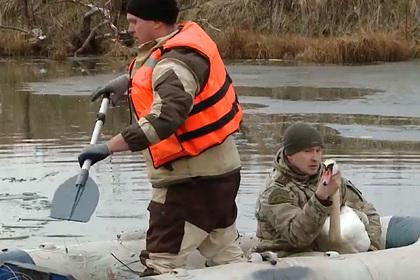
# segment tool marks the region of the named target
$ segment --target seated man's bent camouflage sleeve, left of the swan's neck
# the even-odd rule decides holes
[[[324,206],[313,195],[303,208],[294,203],[295,194],[276,188],[270,192],[263,205],[266,222],[294,248],[305,248],[321,232],[331,206]]]

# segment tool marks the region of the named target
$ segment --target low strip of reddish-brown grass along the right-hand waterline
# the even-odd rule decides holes
[[[398,33],[356,33],[339,37],[260,34],[229,29],[216,37],[223,57],[285,59],[350,64],[402,61],[416,57],[416,46]],[[417,53],[419,55],[419,53]]]

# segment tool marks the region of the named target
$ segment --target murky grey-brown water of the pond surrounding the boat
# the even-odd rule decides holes
[[[96,60],[0,62],[0,247],[114,238],[147,227],[144,161],[122,153],[95,165],[100,201],[89,223],[51,221],[55,189],[78,173],[99,103],[88,95],[125,66]],[[316,125],[326,156],[382,215],[420,215],[420,61],[370,66],[230,65],[245,108],[238,227],[254,231],[254,204],[285,127]],[[128,124],[110,109],[102,139]]]

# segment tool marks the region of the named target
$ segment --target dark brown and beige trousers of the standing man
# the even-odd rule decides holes
[[[185,266],[188,255],[196,249],[210,265],[240,261],[242,251],[235,226],[239,183],[238,170],[154,188],[141,262],[165,273]]]

